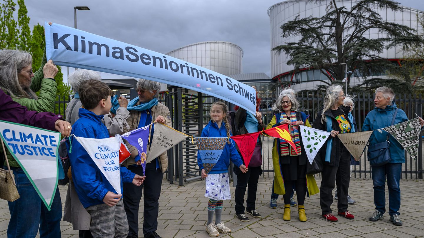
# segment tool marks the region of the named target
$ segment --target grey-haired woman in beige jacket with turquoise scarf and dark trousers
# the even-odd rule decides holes
[[[133,99],[128,105],[130,116],[127,119],[129,130],[124,128],[124,133],[151,124],[156,121],[164,123],[170,127],[171,116],[169,109],[159,103],[160,84],[154,81],[140,79],[137,82],[138,100]],[[154,124],[151,126],[151,136],[153,136]],[[144,213],[143,213],[143,234],[145,238],[157,238],[156,233],[159,213],[159,196],[161,192],[163,172],[167,170],[167,152],[159,155],[158,158],[146,164],[146,173],[143,174],[141,158],[135,147],[126,142],[131,152],[131,157],[123,162],[131,172],[146,176],[144,183],[137,187],[132,184],[123,185],[124,207],[128,219],[128,238],[138,237],[138,208],[144,187]],[[150,144],[148,144],[148,149]]]

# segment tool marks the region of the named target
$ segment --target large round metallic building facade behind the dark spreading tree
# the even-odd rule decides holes
[[[293,70],[293,66],[287,65],[289,56],[284,53],[275,54],[272,49],[276,46],[285,44],[286,42],[297,42],[299,36],[292,36],[290,38],[281,37],[281,25],[284,23],[293,20],[296,16],[304,17],[322,17],[326,14],[326,6],[331,2],[331,0],[323,1],[308,1],[308,0],[287,0],[282,3],[277,3],[271,6],[268,9],[268,15],[270,17],[271,24],[271,78],[274,78],[278,75],[281,75],[285,72]],[[344,5],[346,8],[351,8],[359,0],[336,0],[338,6]],[[421,32],[422,29],[418,28],[418,23],[416,19],[416,14],[423,14],[421,11],[412,8],[404,7],[404,11],[394,12],[390,9],[376,9],[380,14],[382,19],[388,22],[396,22],[398,24],[406,25],[410,28]],[[384,34],[379,33],[377,29],[369,30],[365,35],[369,39],[375,39],[380,37],[385,37]],[[384,50],[383,53],[379,55],[382,58],[388,59],[398,59],[404,58],[404,54],[400,47],[392,47],[388,50]],[[306,75],[300,73],[300,75],[295,75],[293,77],[293,82],[301,83],[311,80],[312,73],[305,72]],[[290,81],[292,75],[282,76],[282,80]],[[287,80],[287,77],[288,80]],[[325,75],[320,74],[319,72],[313,70],[313,78],[320,80],[328,80]]]

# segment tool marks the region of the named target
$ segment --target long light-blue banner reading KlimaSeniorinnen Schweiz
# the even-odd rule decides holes
[[[210,69],[64,25],[45,23],[47,59],[57,65],[144,78],[192,89],[256,111],[256,92]]]

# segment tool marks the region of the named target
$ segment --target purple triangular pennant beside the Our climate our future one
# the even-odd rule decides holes
[[[143,174],[146,174],[146,159],[147,159],[147,144],[150,135],[150,125],[131,130],[121,137],[126,139],[129,144],[137,148],[138,155],[141,159],[141,166],[143,167]]]

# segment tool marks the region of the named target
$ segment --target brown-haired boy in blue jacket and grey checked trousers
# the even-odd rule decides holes
[[[101,81],[86,80],[81,83],[78,93],[84,108],[79,109],[79,119],[73,125],[71,134],[85,138],[109,138],[109,132],[101,120],[112,106],[112,90]],[[121,191],[115,191],[84,147],[73,137],[69,138],[68,151],[70,144],[72,179],[78,198],[91,216],[92,236],[125,238],[128,235],[128,222],[121,199],[122,183],[139,186],[144,177],[120,167]]]

